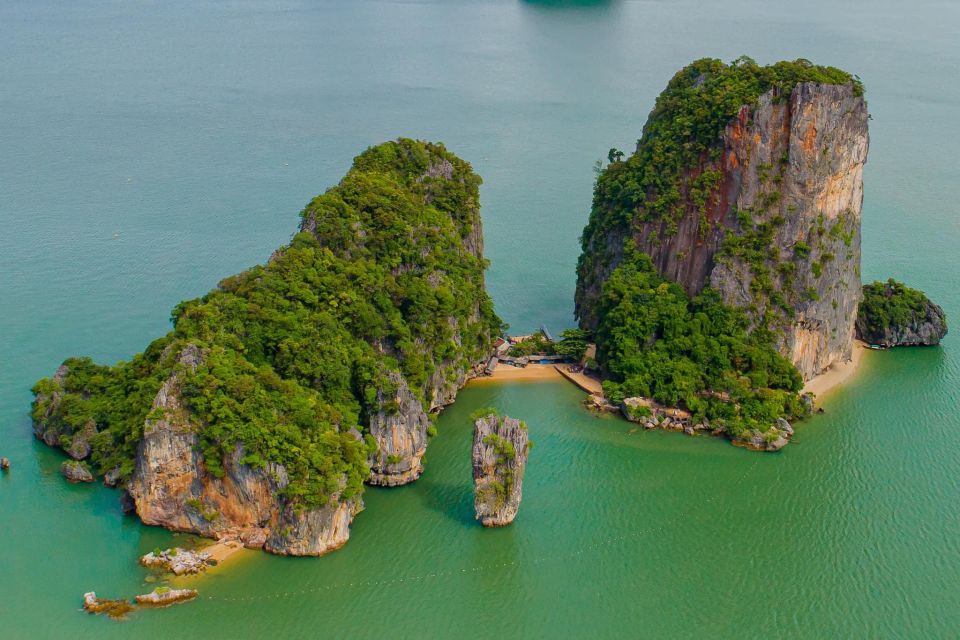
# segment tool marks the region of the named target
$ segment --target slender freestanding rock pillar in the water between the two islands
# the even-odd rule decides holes
[[[520,420],[491,414],[474,423],[474,508],[483,526],[503,527],[517,517],[529,449]]]

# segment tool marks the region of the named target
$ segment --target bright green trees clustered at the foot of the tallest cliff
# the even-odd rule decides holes
[[[685,407],[735,436],[804,413],[800,374],[773,334],[749,331],[746,314],[710,289],[691,300],[644,253],[628,248],[604,284],[598,317],[597,357],[613,402],[642,396]]]

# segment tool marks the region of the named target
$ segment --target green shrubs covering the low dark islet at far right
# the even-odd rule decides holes
[[[863,300],[857,310],[857,333],[865,340],[882,339],[901,327],[910,327],[927,320],[933,303],[926,294],[890,278],[863,286]],[[941,321],[946,328],[946,318]]]

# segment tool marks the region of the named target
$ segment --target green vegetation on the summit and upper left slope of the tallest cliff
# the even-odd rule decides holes
[[[768,92],[774,101],[787,100],[802,82],[852,83],[856,93],[863,91],[859,79],[849,73],[807,60],[761,66],[746,57],[730,64],[704,58],[670,80],[657,98],[636,151],[624,159],[622,152],[611,149],[609,165],[598,171],[577,264],[577,312],[589,328],[595,327],[596,317],[585,307],[592,304],[599,291],[600,283],[595,279],[609,271],[613,254],[619,251],[619,246],[610,245],[610,241],[619,244],[618,239],[630,237],[637,225],[649,222],[661,223],[654,232],[659,237],[670,236],[687,216],[696,218],[698,233],[706,237],[711,225],[717,223],[708,214],[723,178],[718,167],[724,130],[742,107],[757,105]],[[719,254],[749,261],[754,268],[751,287],[760,290],[753,291],[754,295],[766,299],[767,309],[780,319],[784,316],[782,309],[809,294],[805,287],[792,289],[796,276],[789,271],[792,261],[780,259],[769,243],[783,221],[776,215],[766,216],[779,206],[781,193],[776,184],[782,180],[787,161],[784,157],[759,167],[761,182],[769,183],[771,189],[760,195],[755,211],[740,212],[738,217],[745,219],[738,234],[742,237],[734,237]],[[749,255],[740,255],[743,252]],[[822,268],[820,263],[814,267]]]

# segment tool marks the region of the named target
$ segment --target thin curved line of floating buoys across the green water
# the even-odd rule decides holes
[[[736,483],[734,483],[734,486],[737,486],[741,482],[743,482],[747,478],[747,476],[750,475],[750,473],[753,471],[753,469],[756,466],[757,466],[757,461],[754,460],[753,464],[750,465],[747,471],[744,472],[744,474],[737,480]],[[706,499],[705,503],[713,502],[715,497],[716,496],[710,496],[709,498]],[[428,580],[434,580],[436,578],[465,576],[465,575],[471,575],[471,574],[481,573],[485,571],[492,571],[496,569],[508,569],[508,568],[520,567],[520,566],[533,566],[533,565],[543,564],[545,562],[555,562],[559,560],[573,560],[575,558],[581,557],[590,552],[598,551],[605,547],[609,547],[621,542],[626,542],[627,540],[639,538],[641,536],[652,534],[652,533],[659,533],[662,531],[666,531],[668,528],[673,527],[678,522],[685,519],[692,513],[693,513],[692,510],[681,511],[680,513],[676,514],[670,521],[656,527],[650,527],[648,529],[638,529],[636,531],[625,533],[623,535],[611,536],[609,538],[605,538],[603,540],[594,542],[592,544],[582,546],[578,548],[576,551],[570,551],[568,553],[551,554],[547,556],[541,556],[539,558],[532,558],[530,560],[511,560],[509,562],[494,562],[490,564],[477,565],[473,567],[464,567],[461,569],[451,569],[448,571],[434,571],[430,573],[422,573],[420,575],[405,576],[402,578],[389,578],[384,580],[358,580],[354,582],[339,582],[336,584],[329,584],[325,586],[311,587],[306,589],[296,589],[293,591],[277,591],[269,594],[248,595],[248,596],[212,595],[212,596],[201,596],[199,599],[207,600],[210,602],[257,602],[257,601],[265,601],[265,600],[278,600],[282,598],[306,596],[311,593],[320,593],[324,591],[342,591],[346,589],[358,589],[358,588],[364,588],[364,587],[388,587],[388,586],[395,586],[395,585],[402,585],[402,584],[409,584],[409,583],[423,583]]]

